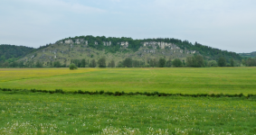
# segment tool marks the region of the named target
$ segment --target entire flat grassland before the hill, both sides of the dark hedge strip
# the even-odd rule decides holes
[[[0,88],[256,94],[255,67],[0,69]],[[0,134],[255,134],[256,97],[0,90]]]

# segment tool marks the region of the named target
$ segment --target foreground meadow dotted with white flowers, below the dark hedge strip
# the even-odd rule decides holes
[[[0,134],[253,134],[256,98],[0,91]]]

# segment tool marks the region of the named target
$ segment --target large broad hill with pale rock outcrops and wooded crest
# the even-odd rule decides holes
[[[126,37],[80,36],[47,44],[28,53],[20,61],[24,61],[24,63],[41,61],[43,66],[49,66],[52,61],[60,61],[62,64],[69,65],[71,59],[85,58],[90,61],[105,57],[107,62],[113,59],[118,63],[125,58],[133,58],[148,63],[152,58],[185,59],[187,56],[196,54],[203,55],[204,59],[208,60],[216,60],[219,57],[224,57],[228,61],[230,58],[242,59],[235,52],[213,49],[197,42],[193,44],[187,40],[169,38],[133,40]]]

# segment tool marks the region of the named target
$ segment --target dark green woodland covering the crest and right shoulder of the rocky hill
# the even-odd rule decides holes
[[[227,50],[222,50],[222,49],[214,49],[212,47],[204,46],[200,43],[195,42],[194,44],[189,42],[188,40],[177,40],[174,38],[156,38],[156,39],[144,39],[144,40],[133,40],[132,38],[127,38],[127,37],[121,37],[121,38],[116,38],[116,37],[105,37],[105,36],[76,36],[74,38],[66,38],[63,40],[59,40],[57,42],[63,41],[64,40],[72,40],[72,42],[76,42],[76,40],[86,40],[88,41],[88,45],[92,48],[96,49],[106,49],[109,52],[115,53],[118,51],[121,47],[123,47],[120,43],[121,42],[128,42],[128,49],[132,49],[133,51],[137,51],[140,47],[143,47],[144,42],[150,42],[150,41],[155,41],[155,42],[166,42],[166,43],[172,43],[175,44],[177,47],[180,49],[184,50],[195,50],[199,54],[203,55],[205,59],[213,59],[217,60],[220,57],[226,58],[229,60],[230,58],[234,58],[237,60],[241,60],[242,57],[231,51]],[[104,42],[111,42],[109,46],[104,46]],[[97,44],[96,44],[97,42]]]

